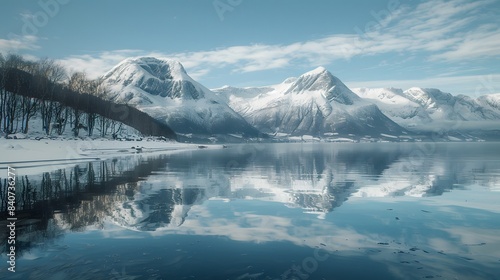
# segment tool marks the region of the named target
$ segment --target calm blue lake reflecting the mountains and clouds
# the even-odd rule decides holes
[[[136,154],[16,195],[1,279],[500,279],[500,143]]]

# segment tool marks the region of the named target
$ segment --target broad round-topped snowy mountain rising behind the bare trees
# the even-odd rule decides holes
[[[153,57],[122,61],[103,76],[109,98],[165,121],[177,133],[246,134],[258,131],[177,61]]]

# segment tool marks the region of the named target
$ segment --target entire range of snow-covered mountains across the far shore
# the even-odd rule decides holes
[[[197,135],[411,139],[432,131],[480,139],[500,130],[500,94],[472,99],[438,89],[349,89],[323,67],[281,84],[210,90],[176,61],[127,59],[103,77],[109,99]],[[471,133],[475,135],[465,135]],[[498,134],[500,135],[500,133]]]

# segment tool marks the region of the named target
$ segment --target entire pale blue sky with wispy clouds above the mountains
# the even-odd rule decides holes
[[[209,88],[324,66],[350,87],[500,93],[500,0],[5,0],[0,52],[98,77],[128,57],[179,60]]]

